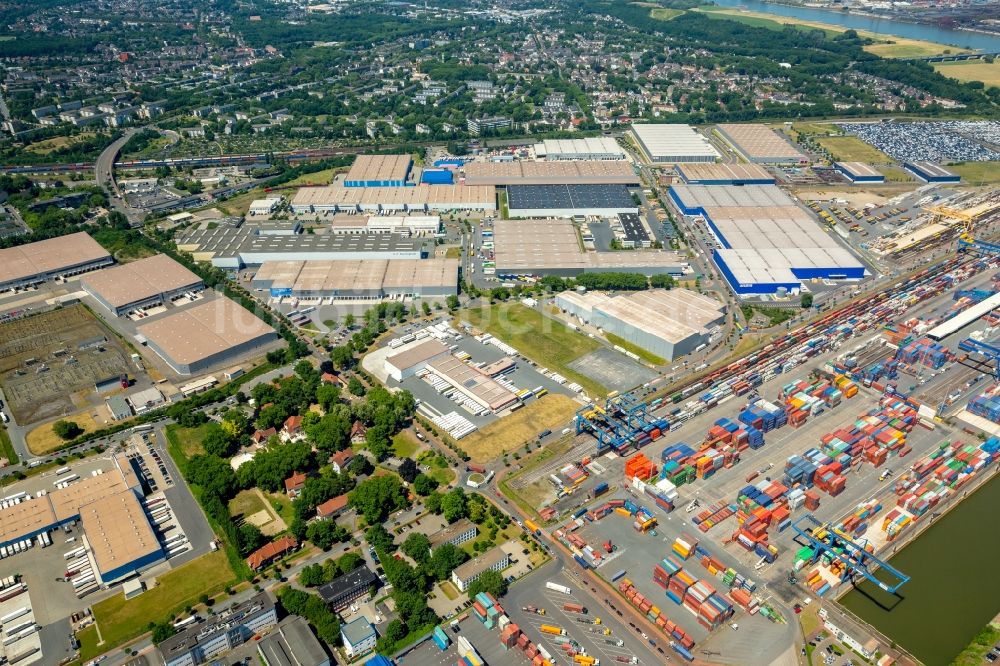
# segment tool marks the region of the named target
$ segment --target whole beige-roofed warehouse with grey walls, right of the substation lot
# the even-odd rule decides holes
[[[222,296],[159,317],[137,330],[137,339],[181,375],[231,363],[278,338],[273,328]]]

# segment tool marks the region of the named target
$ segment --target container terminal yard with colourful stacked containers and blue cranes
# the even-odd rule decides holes
[[[602,586],[571,603],[632,618],[624,652],[641,638],[660,660],[764,664],[796,661],[788,625],[816,601],[835,608],[852,582],[905,593],[907,573],[887,560],[1000,456],[1000,441],[963,420],[995,414],[991,395],[954,419],[920,399],[960,387],[964,403],[986,388],[996,299],[975,297],[993,293],[996,267],[992,254],[960,254],[679,389],[581,408],[569,450],[505,484],[522,499],[541,489],[524,526],[566,556],[561,578]],[[951,380],[970,364],[982,370]],[[551,613],[562,598],[518,590],[508,612],[522,629],[592,639],[572,617],[542,630],[532,608]],[[852,627],[861,648],[874,634],[833,612],[825,621]],[[879,658],[914,660],[877,638]],[[617,643],[605,645],[617,661]]]

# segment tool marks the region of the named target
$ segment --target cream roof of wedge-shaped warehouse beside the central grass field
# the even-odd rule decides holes
[[[652,289],[618,296],[565,291],[559,298],[582,310],[599,310],[673,344],[707,334],[725,314],[719,301],[687,289]]]

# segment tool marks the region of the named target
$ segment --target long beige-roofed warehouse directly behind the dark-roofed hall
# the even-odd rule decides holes
[[[493,185],[629,185],[638,186],[639,176],[625,161],[565,162],[469,162],[465,184]]]

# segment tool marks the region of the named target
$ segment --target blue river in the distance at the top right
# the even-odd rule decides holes
[[[720,7],[739,7],[755,12],[766,12],[768,14],[788,16],[806,21],[828,23],[855,30],[867,30],[883,35],[922,39],[928,42],[951,44],[952,46],[960,46],[977,51],[1000,51],[1000,36],[996,35],[951,30],[934,25],[906,23],[905,21],[893,21],[892,19],[861,16],[847,12],[835,12],[816,7],[778,5],[771,2],[763,2],[762,0],[714,0],[714,2]]]

